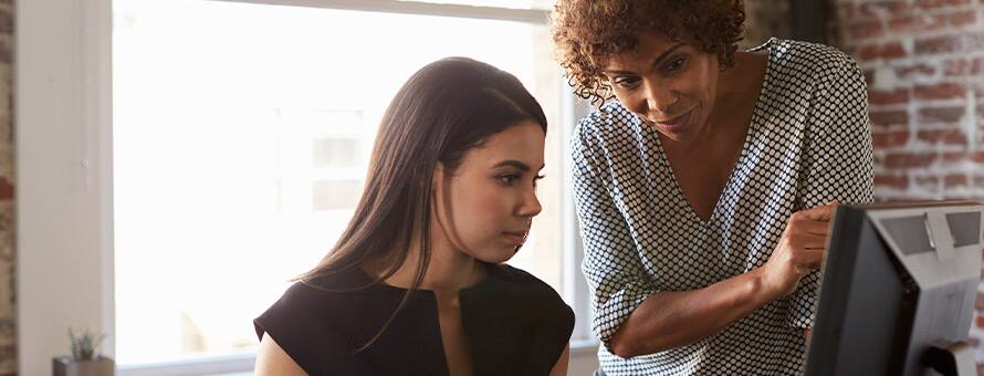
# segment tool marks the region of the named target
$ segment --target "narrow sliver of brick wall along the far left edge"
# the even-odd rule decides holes
[[[17,374],[12,62],[13,0],[0,0],[0,376]]]

